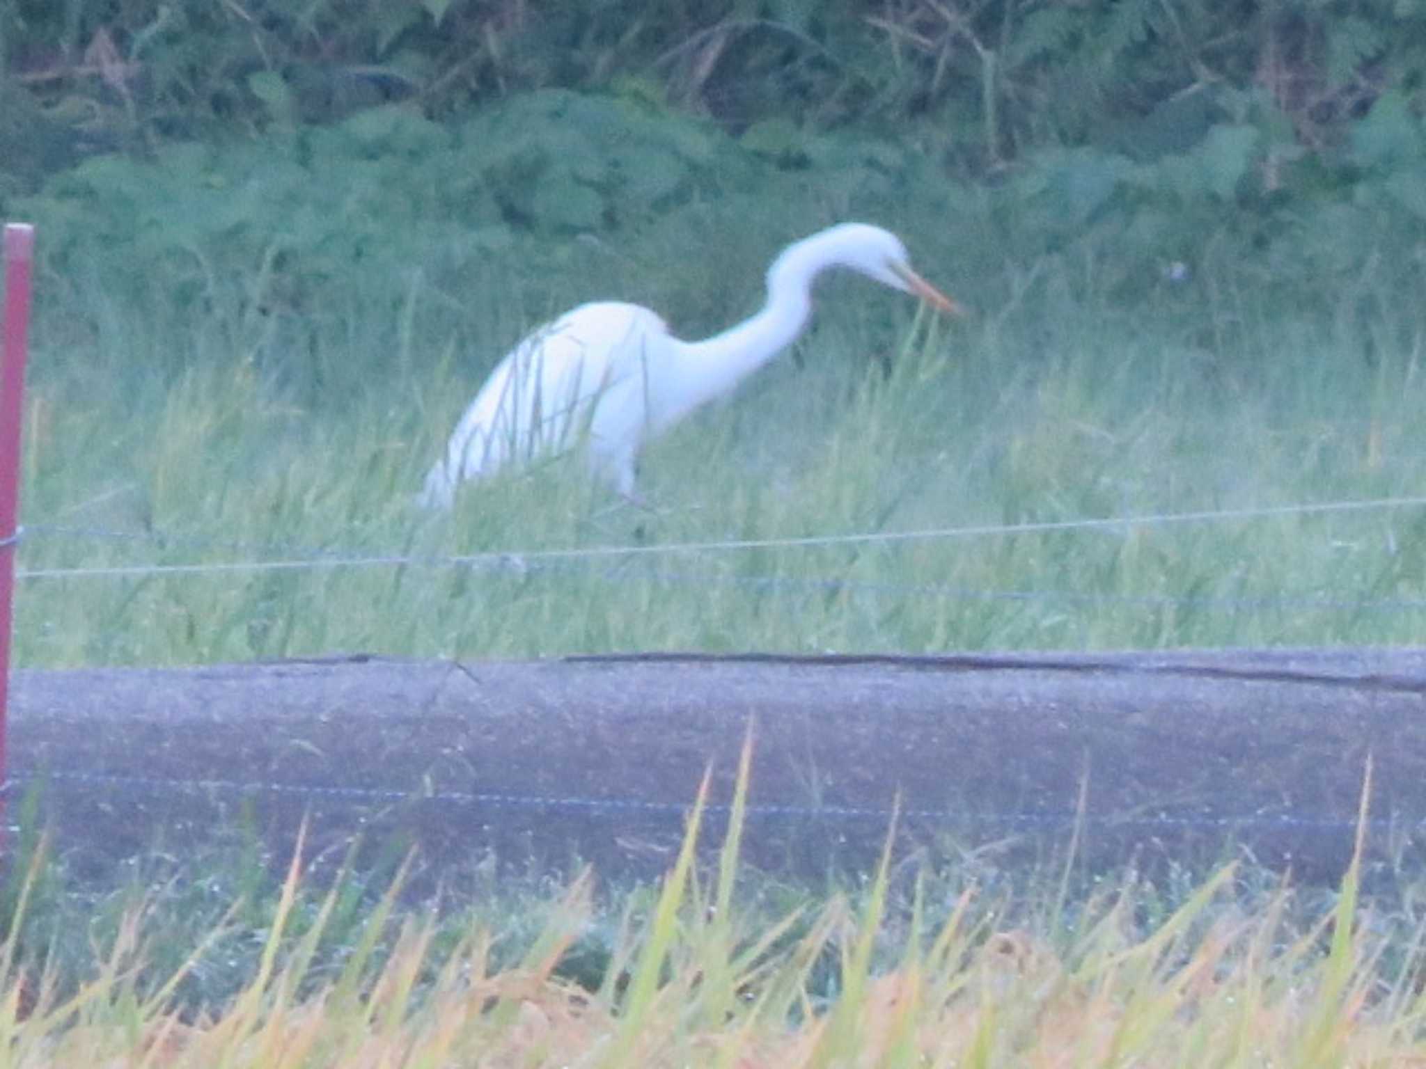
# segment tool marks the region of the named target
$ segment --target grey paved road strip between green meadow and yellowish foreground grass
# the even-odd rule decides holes
[[[770,868],[863,864],[897,795],[907,845],[1062,845],[1085,770],[1094,864],[1233,835],[1335,879],[1368,754],[1373,841],[1426,821],[1426,649],[352,657],[20,671],[13,700],[11,771],[46,780],[81,867],[248,807],[278,851],[309,814],[319,849],[414,837],[431,874],[491,851],[656,871],[709,761],[727,801],[749,723],[749,849]]]

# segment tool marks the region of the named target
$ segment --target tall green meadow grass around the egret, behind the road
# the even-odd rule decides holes
[[[1125,302],[1068,255],[1030,269],[990,258],[977,275],[913,235],[923,272],[975,315],[933,326],[897,294],[830,279],[794,352],[647,450],[652,512],[592,486],[578,459],[472,486],[449,517],[414,507],[488,369],[545,316],[617,295],[699,334],[750,311],[774,242],[670,234],[637,257],[576,241],[566,269],[540,277],[492,254],[462,292],[419,265],[399,279],[358,265],[347,299],[301,315],[41,279],[23,569],[508,556],[29,579],[19,663],[1419,640],[1426,510],[522,556],[1426,492],[1410,309],[1326,286],[1322,302],[1288,301],[1246,272]],[[694,238],[706,255],[689,255]]]

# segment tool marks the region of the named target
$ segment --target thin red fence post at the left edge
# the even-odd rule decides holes
[[[20,425],[24,362],[30,336],[30,261],[34,227],[4,228],[4,348],[0,351],[0,851],[6,845],[10,735],[10,633],[14,611],[14,552],[20,527]]]

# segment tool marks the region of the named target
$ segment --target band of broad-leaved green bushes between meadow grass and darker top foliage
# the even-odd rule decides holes
[[[1363,272],[1382,277],[1373,292],[1385,284],[1415,304],[1426,133],[1407,100],[1385,94],[1330,165],[1276,160],[1276,120],[1243,98],[1186,151],[1045,147],[971,184],[914,145],[851,128],[767,121],[733,138],[639,97],[543,90],[456,121],[381,105],[93,155],[16,208],[44,227],[56,275],[97,275],[116,298],[158,295],[178,318],[201,308],[252,353],[302,351],[294,332],[324,329],[328,314],[349,322],[354,306],[389,322],[418,274],[451,298],[453,322],[469,295],[538,279],[543,301],[623,294],[712,326],[746,308],[776,244],[848,217],[907,229],[985,309],[1022,299],[1024,278],[1052,259],[1094,265],[1070,272],[1091,304],[1251,282],[1320,309]]]

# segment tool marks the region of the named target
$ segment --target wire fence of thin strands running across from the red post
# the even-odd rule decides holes
[[[100,566],[64,567],[21,567],[16,579],[21,583],[47,580],[121,580],[165,576],[222,576],[297,573],[338,569],[461,569],[469,572],[566,572],[573,567],[595,567],[612,580],[626,579],[629,569],[639,564],[642,579],[663,584],[734,586],[759,592],[791,593],[858,593],[886,597],[938,597],[953,600],[1007,600],[1007,601],[1065,601],[1078,604],[1125,604],[1125,606],[1195,606],[1236,611],[1243,609],[1316,609],[1372,613],[1419,613],[1426,610],[1426,597],[1339,597],[1310,593],[1283,593],[1276,596],[1199,596],[1199,594],[1132,594],[1047,589],[974,589],[947,583],[900,583],[858,582],[843,577],[787,576],[787,574],[726,574],[713,569],[694,566],[670,566],[670,560],[689,560],[693,564],[712,556],[727,556],[753,550],[811,550],[836,546],[906,546],[925,542],[1007,539],[1047,533],[1095,533],[1124,532],[1144,527],[1182,527],[1188,525],[1249,523],[1293,516],[1333,516],[1390,513],[1400,510],[1426,510],[1426,496],[1376,497],[1363,500],[1309,502],[1298,505],[1263,506],[1246,509],[1195,510],[1178,513],[1147,513],[1114,517],[1085,517],[1048,522],[973,525],[924,527],[900,532],[848,532],[817,536],[781,539],[730,539],[673,542],[655,544],[596,544],[569,549],[506,549],[468,554],[424,554],[411,552],[362,552],[341,547],[302,547],[289,544],[262,544],[207,537],[202,534],[163,530],[120,530],[103,526],[76,526],[63,523],[31,523],[16,532],[11,542],[33,543],[39,539],[123,542],[135,546],[157,547],[161,552],[191,552],[197,554],[225,553],[245,556],[225,562],[138,562]],[[461,807],[466,810],[520,810],[548,812],[582,812],[609,818],[630,814],[677,817],[689,808],[679,800],[645,800],[636,797],[563,797],[542,792],[482,792],[472,791],[402,791],[385,787],[319,785],[301,783],[275,783],[241,778],[164,778],[147,775],[120,775],[103,770],[67,768],[63,771],[40,771],[37,768],[14,768],[9,780],[0,784],[0,792],[11,797],[21,788],[41,783],[64,785],[70,790],[113,790],[140,792],[144,795],[173,795],[183,792],[221,792],[227,795],[284,795],[308,801],[345,801],[362,805],[392,805],[411,802],[421,807]],[[710,812],[727,812],[729,807],[714,804]],[[787,805],[752,804],[747,817],[753,821],[821,820],[821,821],[877,821],[893,820],[890,808],[854,805]],[[1175,812],[1141,811],[1117,815],[1092,815],[1072,808],[1060,811],[1021,812],[974,812],[950,810],[903,810],[901,818],[943,825],[984,825],[1008,830],[1060,830],[1077,822],[1129,830],[1152,835],[1171,830],[1295,830],[1338,835],[1356,827],[1352,814],[1312,812]],[[1373,817],[1372,827],[1390,827],[1396,831],[1426,831],[1426,815]]]

